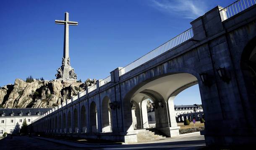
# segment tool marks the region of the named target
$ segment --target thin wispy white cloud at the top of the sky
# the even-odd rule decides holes
[[[152,6],[159,11],[195,19],[209,10],[203,0],[152,0]]]

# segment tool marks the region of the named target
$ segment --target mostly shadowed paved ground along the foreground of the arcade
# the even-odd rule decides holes
[[[149,141],[149,143],[110,145],[77,143],[66,140],[56,140],[44,137],[13,137],[13,139],[0,140],[1,150],[128,150],[128,149],[161,149],[161,150],[194,150],[205,147],[204,136],[199,132],[166,138],[162,141]],[[3,148],[3,149],[2,149]]]

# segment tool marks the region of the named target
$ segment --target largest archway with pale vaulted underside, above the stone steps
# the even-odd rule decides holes
[[[163,67],[165,66],[165,64],[161,66]],[[157,75],[154,75],[154,77],[149,77],[146,80],[134,77],[129,81],[127,81],[130,83],[129,85],[130,89],[126,88],[128,92],[125,94],[122,101],[123,112],[125,114],[125,119],[124,119],[125,131],[132,130],[130,123],[128,123],[128,122],[132,122],[132,119],[128,117],[129,115],[131,115],[131,108],[129,107],[129,103],[131,99],[133,99],[134,95],[137,95],[137,94],[144,94],[147,97],[150,97],[150,99],[152,99],[154,102],[162,102],[161,104],[162,108],[157,110],[159,111],[158,114],[156,114],[157,112],[155,112],[157,128],[177,127],[174,104],[173,104],[173,100],[175,96],[178,93],[180,93],[182,90],[190,86],[193,86],[195,84],[201,85],[202,82],[199,77],[199,74],[196,71],[193,71],[191,69],[172,68],[170,70],[167,69],[165,71],[166,72],[161,72],[162,74],[157,73],[156,71],[155,73],[157,73]],[[125,83],[125,84],[129,84],[129,83]],[[136,83],[136,84],[133,84],[133,83]],[[161,96],[161,98],[159,96]],[[170,97],[172,98],[170,99]],[[160,118],[159,122],[157,122],[157,116],[160,116],[158,117]]]

